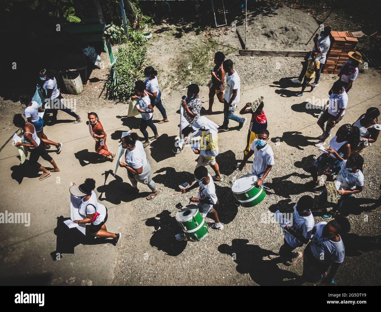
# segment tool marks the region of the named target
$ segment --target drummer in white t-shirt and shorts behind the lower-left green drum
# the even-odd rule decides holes
[[[199,186],[199,193],[197,197],[191,197],[189,200],[192,203],[197,203],[202,217],[205,219],[207,215],[213,219],[214,222],[208,222],[209,227],[214,228],[215,230],[223,230],[224,225],[219,222],[217,211],[213,208],[213,205],[218,204],[218,198],[216,195],[216,187],[213,183],[213,179],[210,174],[208,174],[208,169],[204,166],[196,167],[194,170],[194,178],[197,183],[194,183],[189,188],[182,188],[181,193],[186,193],[188,191],[194,190]],[[175,235],[176,240],[184,240],[184,233],[179,233]]]

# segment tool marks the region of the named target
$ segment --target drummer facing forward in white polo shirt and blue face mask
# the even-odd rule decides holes
[[[238,167],[238,170],[242,170],[248,159],[253,156],[253,167],[251,172],[258,177],[257,185],[260,187],[263,184],[264,179],[270,173],[272,166],[274,165],[274,152],[271,146],[267,144],[269,140],[269,131],[262,129],[258,133],[258,139],[254,140],[250,145],[250,151],[243,157],[243,161]]]

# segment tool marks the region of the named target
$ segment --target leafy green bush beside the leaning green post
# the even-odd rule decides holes
[[[130,42],[121,45],[115,53],[115,63],[106,81],[106,98],[127,102],[134,92],[133,79],[144,79],[147,40],[141,31],[130,32]]]

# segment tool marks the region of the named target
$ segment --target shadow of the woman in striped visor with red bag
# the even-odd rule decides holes
[[[70,218],[60,216],[57,218],[57,227],[54,229],[56,238],[56,250],[50,253],[53,261],[61,260],[64,254],[74,254],[74,248],[79,244],[98,245],[111,244],[113,240],[104,238],[95,238],[88,230],[90,225],[86,225],[86,235],[83,235],[77,228],[68,228],[64,224],[65,220]]]

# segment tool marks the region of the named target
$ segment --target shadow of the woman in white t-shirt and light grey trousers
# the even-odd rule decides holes
[[[122,201],[127,203],[130,201],[133,201],[136,198],[147,197],[151,193],[150,191],[149,192],[140,191],[139,193],[134,193],[133,191],[131,191],[132,186],[129,183],[130,180],[128,179],[127,172],[123,173],[122,171],[123,169],[124,168],[119,168],[118,170],[120,170],[120,174],[123,177],[125,177],[128,183],[124,182],[122,177],[120,177],[119,175],[115,175],[114,177],[112,170],[105,171],[104,173],[102,173],[102,175],[105,175],[104,184],[101,185],[100,187],[97,187],[96,189],[98,193],[100,193],[98,197],[99,201],[105,200],[105,201],[108,201],[109,203],[118,205],[122,203]],[[124,170],[127,171],[126,169]],[[110,180],[110,182],[106,184],[108,179],[112,179],[112,180]],[[141,183],[138,183],[138,188],[140,190],[143,187],[147,187],[147,186]]]

